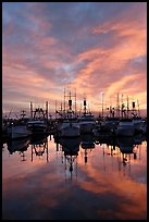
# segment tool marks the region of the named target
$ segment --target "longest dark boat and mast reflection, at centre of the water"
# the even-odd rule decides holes
[[[63,155],[64,155],[64,164],[65,164],[65,173],[70,172],[70,178],[72,181],[72,174],[74,169],[74,163],[76,162],[76,175],[77,175],[77,156],[79,151],[79,144],[80,138],[59,138],[57,140],[57,151],[59,150],[59,145],[62,148]],[[63,163],[63,157],[62,157],[62,163]],[[69,169],[67,169],[69,165]],[[66,175],[66,174],[65,174]]]

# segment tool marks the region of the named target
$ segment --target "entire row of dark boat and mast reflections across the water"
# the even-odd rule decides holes
[[[32,136],[27,139],[10,140],[4,147],[8,148],[9,153],[17,152],[22,161],[27,160],[27,149],[32,156],[32,162],[36,159],[49,161],[48,143],[55,145],[57,160],[59,155],[64,164],[65,176],[72,180],[73,174],[77,175],[77,157],[82,156],[83,163],[89,162],[89,156],[100,159],[100,166],[105,171],[125,171],[128,170],[131,174],[131,164],[136,164],[141,159],[141,144],[146,145],[146,138],[141,135],[134,137],[114,137],[109,135],[94,135],[84,134],[75,138],[59,138],[54,136]],[[80,151],[79,151],[80,147]],[[99,150],[97,150],[99,149]],[[92,150],[95,150],[92,152]],[[25,153],[26,152],[26,153]],[[79,160],[79,159],[78,159]],[[101,164],[103,162],[103,164]],[[75,170],[75,171],[74,171]]]

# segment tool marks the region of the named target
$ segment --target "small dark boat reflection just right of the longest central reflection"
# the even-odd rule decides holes
[[[90,135],[90,134],[82,135],[82,137],[80,137],[80,147],[85,151],[84,160],[85,160],[85,163],[87,163],[88,153],[90,153],[91,150],[95,149],[94,136]]]

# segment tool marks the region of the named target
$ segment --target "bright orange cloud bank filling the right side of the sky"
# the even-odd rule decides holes
[[[79,91],[91,95],[94,102],[94,98],[97,99],[99,92],[104,90],[107,97],[113,97],[117,92],[136,95],[141,101],[140,108],[146,107],[146,67],[139,71],[138,67],[134,69],[128,64],[131,60],[137,61],[137,58],[146,55],[146,27],[137,24],[109,22],[101,27],[92,28],[92,34],[98,35],[114,30],[117,38],[123,39],[109,49],[97,47],[78,54],[78,62],[87,63],[73,84]]]

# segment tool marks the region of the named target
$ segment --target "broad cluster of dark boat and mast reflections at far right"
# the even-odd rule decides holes
[[[131,137],[114,137],[114,136],[98,136],[95,137],[96,147],[102,148],[103,151],[103,169],[108,170],[105,162],[110,162],[113,168],[113,162],[117,161],[119,172],[122,171],[125,176],[131,175],[131,165],[140,161],[141,144],[145,141],[141,135]],[[110,159],[108,157],[111,157]]]

